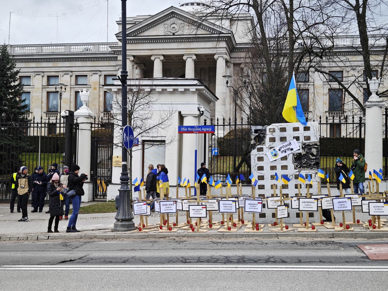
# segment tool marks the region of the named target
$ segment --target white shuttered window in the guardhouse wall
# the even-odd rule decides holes
[[[161,140],[142,141],[143,150],[143,177],[148,174],[148,165],[165,164],[166,142]]]

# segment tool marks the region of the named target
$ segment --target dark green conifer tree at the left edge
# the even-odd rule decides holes
[[[25,111],[28,107],[20,100],[23,84],[19,82],[19,69],[12,60],[7,46],[0,47],[0,177],[8,181],[23,163],[21,152],[28,147],[26,127],[28,119]],[[23,104],[23,105],[22,105]]]

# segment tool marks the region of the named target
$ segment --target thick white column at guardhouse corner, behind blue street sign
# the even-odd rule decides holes
[[[182,111],[183,125],[198,125],[199,113],[198,111]],[[196,134],[186,133],[182,135],[182,176],[183,178],[190,179],[190,184],[194,185],[195,172],[194,168],[194,151],[196,149]],[[197,151],[197,168],[198,156],[202,156],[199,150]],[[199,164],[200,165],[200,164]]]

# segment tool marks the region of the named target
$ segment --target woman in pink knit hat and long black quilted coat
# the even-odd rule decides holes
[[[51,178],[51,181],[47,184],[47,193],[50,196],[50,218],[49,218],[49,226],[47,227],[47,232],[53,232],[51,230],[52,222],[55,217],[55,224],[54,224],[54,232],[59,232],[58,230],[58,224],[59,224],[59,217],[63,213],[63,206],[61,204],[61,194],[62,189],[66,188],[66,186],[61,185],[59,183],[59,176],[57,173],[54,173],[54,175]]]

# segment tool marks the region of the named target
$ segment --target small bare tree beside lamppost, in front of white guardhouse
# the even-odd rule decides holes
[[[117,90],[112,90],[112,110],[106,116],[99,116],[101,122],[107,120],[114,125],[114,146],[120,147],[121,144],[121,87]],[[160,96],[155,91],[152,81],[130,80],[127,85],[127,120],[132,126],[134,138],[144,136],[165,136],[166,146],[175,141],[175,132],[165,130],[171,125],[171,118],[176,113],[175,107],[172,104],[161,104]],[[147,144],[146,148],[153,146]],[[145,148],[145,149],[146,149]],[[142,147],[132,148],[128,150],[129,154],[129,178],[132,183],[132,153],[142,150]],[[130,199],[132,200],[132,192]]]

